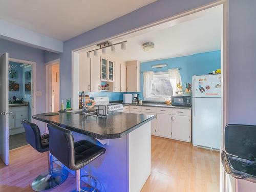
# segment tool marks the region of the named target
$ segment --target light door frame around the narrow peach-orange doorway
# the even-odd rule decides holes
[[[46,113],[50,112],[50,103],[51,103],[51,88],[52,88],[52,82],[51,82],[51,76],[50,76],[50,67],[51,66],[59,66],[59,73],[60,73],[60,59],[55,59],[52,61],[49,61],[45,63],[46,66]],[[60,100],[60,78],[59,78],[59,100]]]

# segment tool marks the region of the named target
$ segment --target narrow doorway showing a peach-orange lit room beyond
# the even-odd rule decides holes
[[[46,112],[59,111],[59,60],[46,63]]]

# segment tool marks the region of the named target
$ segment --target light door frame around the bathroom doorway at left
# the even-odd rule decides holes
[[[31,111],[31,116],[36,115],[36,62],[34,61],[28,61],[28,60],[23,60],[23,59],[15,59],[12,57],[9,57],[9,61],[12,62],[18,62],[18,63],[25,63],[31,65],[32,69],[32,79],[31,79],[31,89],[32,89],[32,111]],[[32,122],[35,122],[34,119],[32,119]]]

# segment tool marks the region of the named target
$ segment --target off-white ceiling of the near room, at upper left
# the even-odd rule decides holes
[[[65,41],[156,0],[1,0],[0,18]]]

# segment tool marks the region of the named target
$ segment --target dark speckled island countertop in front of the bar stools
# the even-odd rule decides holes
[[[49,113],[48,113],[49,114]],[[60,113],[46,116],[45,113],[32,116],[46,123],[55,123],[68,130],[97,139],[115,139],[131,133],[141,125],[155,118],[154,115],[111,112],[107,117],[94,117],[76,113]]]

